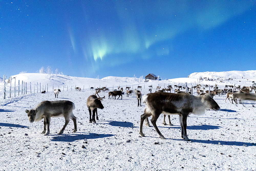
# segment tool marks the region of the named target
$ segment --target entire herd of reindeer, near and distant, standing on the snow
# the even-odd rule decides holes
[[[254,84],[255,85],[255,84]],[[215,95],[226,93],[226,100],[228,99],[230,103],[235,102],[236,104],[241,104],[242,100],[256,100],[256,93],[251,93],[253,90],[256,90],[255,86],[251,87],[241,87],[241,86],[228,86],[226,85],[224,89],[219,89],[218,85],[214,86],[210,85],[196,85],[194,87],[191,86],[191,89],[186,89],[183,86],[174,85],[174,88],[171,85],[168,85],[166,88],[162,88],[161,86],[157,86],[155,88],[155,92],[152,93],[153,86],[148,86],[149,93],[142,95],[142,87],[138,86],[137,89],[130,90],[131,87],[125,87],[126,97],[132,94],[136,95],[137,106],[141,105],[141,100],[145,103],[144,113],[141,115],[140,126],[139,126],[139,134],[143,137],[145,136],[142,128],[145,120],[145,124],[150,126],[148,117],[152,116],[151,123],[154,126],[156,133],[159,138],[165,139],[162,133],[159,131],[156,121],[161,114],[164,114],[163,125],[167,125],[165,122],[165,117],[168,115],[168,125],[173,125],[170,121],[170,115],[179,115],[179,122],[181,127],[181,138],[186,141],[190,141],[187,136],[187,117],[193,113],[195,115],[202,115],[206,110],[220,110],[219,105],[213,99]],[[205,88],[212,88],[205,91]],[[228,89],[229,88],[229,89]],[[95,93],[90,95],[86,101],[86,105],[89,110],[89,123],[96,123],[96,120],[99,120],[97,109],[104,109],[102,104],[104,97],[100,97],[99,93],[108,92],[108,99],[116,99],[122,100],[123,88],[120,86],[117,87],[118,90],[114,89],[110,91],[109,88],[102,87],[95,89]],[[140,90],[139,90],[140,89]],[[186,91],[180,91],[185,89]],[[81,91],[81,88],[76,87],[75,90]],[[94,87],[90,87],[90,90],[94,90]],[[192,90],[196,90],[197,96],[191,94]],[[173,91],[174,93],[171,93]],[[60,93],[60,89],[55,89],[54,94],[55,98],[58,98]],[[187,93],[188,92],[188,93]],[[46,93],[46,91],[42,91],[41,93]],[[238,102],[237,102],[238,99]],[[254,107],[254,106],[253,106]],[[60,130],[58,134],[63,134],[66,126],[69,123],[69,120],[73,120],[74,129],[73,132],[77,131],[77,123],[76,117],[73,115],[73,110],[75,109],[75,105],[71,101],[60,100],[60,101],[42,101],[39,103],[34,109],[26,110],[25,112],[28,114],[29,122],[38,122],[41,119],[44,119],[44,130],[42,134],[49,135],[50,134],[50,120],[51,117],[64,117],[65,124]],[[96,115],[96,120],[95,120]]]

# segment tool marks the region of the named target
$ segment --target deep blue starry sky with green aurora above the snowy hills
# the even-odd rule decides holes
[[[0,1],[0,77],[256,70],[255,1]]]

